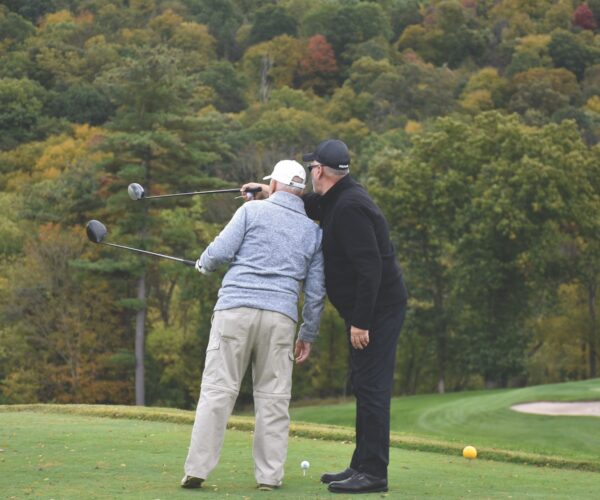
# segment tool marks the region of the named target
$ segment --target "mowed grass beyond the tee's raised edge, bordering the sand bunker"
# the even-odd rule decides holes
[[[518,413],[531,401],[600,401],[600,379],[523,389],[395,398],[391,430],[398,436],[472,444],[482,456],[495,450],[553,456],[600,470],[600,418]],[[293,408],[294,421],[354,426],[354,402]],[[526,460],[521,460],[526,461]],[[568,465],[568,464],[567,464]],[[571,464],[573,465],[573,464]],[[600,498],[600,482],[598,484]]]

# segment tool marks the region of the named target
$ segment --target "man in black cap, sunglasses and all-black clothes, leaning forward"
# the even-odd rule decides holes
[[[304,205],[323,228],[327,295],[346,323],[356,396],[356,448],[350,466],[323,474],[321,481],[334,493],[387,491],[390,400],[406,287],[383,214],[348,174],[346,144],[323,141],[303,160],[314,191],[303,196]],[[249,186],[255,185],[242,190]]]

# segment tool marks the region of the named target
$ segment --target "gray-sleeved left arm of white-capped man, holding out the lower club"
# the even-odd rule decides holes
[[[219,236],[208,245],[200,256],[202,269],[212,272],[221,264],[227,264],[233,260],[244,241],[246,216],[246,205],[242,205],[237,209]]]

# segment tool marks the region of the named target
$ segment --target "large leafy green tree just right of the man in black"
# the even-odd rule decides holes
[[[410,324],[435,339],[438,389],[459,366],[506,385],[524,374],[532,308],[561,278],[549,271],[589,184],[587,148],[573,123],[533,129],[496,112],[439,119],[413,141],[375,162]]]

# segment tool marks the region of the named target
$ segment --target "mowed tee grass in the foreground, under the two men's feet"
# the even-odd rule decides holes
[[[201,491],[179,488],[191,425],[32,411],[0,412],[2,498],[348,498],[319,483],[347,465],[348,443],[294,437],[284,487],[255,489],[250,432],[228,430]],[[305,477],[299,467],[309,460]],[[598,498],[600,474],[393,448],[388,498]],[[380,498],[383,495],[367,495]],[[353,496],[349,496],[354,498]]]

